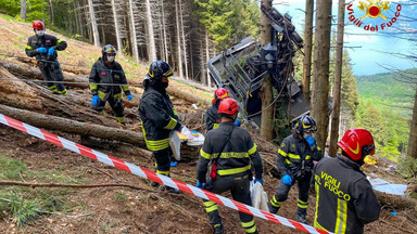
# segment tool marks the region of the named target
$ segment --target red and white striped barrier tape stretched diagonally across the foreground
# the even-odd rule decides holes
[[[280,216],[276,216],[276,214],[256,209],[254,207],[238,203],[236,200],[229,199],[229,198],[220,196],[218,194],[214,194],[214,193],[207,192],[205,190],[201,190],[199,187],[192,186],[190,184],[186,184],[181,181],[170,179],[170,178],[165,177],[163,174],[157,174],[157,173],[150,171],[148,169],[138,167],[136,165],[119,160],[117,158],[105,155],[105,154],[100,153],[98,151],[94,151],[94,150],[88,148],[86,146],[79,145],[75,142],[72,142],[72,141],[66,140],[64,138],[61,138],[59,135],[52,134],[48,131],[45,131],[42,129],[36,128],[34,126],[30,126],[30,125],[27,125],[25,122],[18,121],[16,119],[10,118],[10,117],[4,116],[2,114],[0,114],[0,122],[3,125],[10,126],[12,128],[15,128],[20,131],[31,134],[34,136],[37,136],[39,139],[42,139],[45,141],[48,141],[52,144],[67,148],[72,152],[87,156],[91,159],[99,160],[99,161],[106,164],[109,166],[122,169],[124,171],[127,171],[129,173],[139,176],[141,178],[144,178],[144,179],[148,179],[151,181],[155,181],[160,184],[164,184],[164,185],[167,185],[167,186],[170,186],[174,188],[178,188],[185,193],[189,193],[191,195],[215,202],[216,204],[229,207],[231,209],[235,209],[235,210],[238,210],[241,212],[245,212],[245,213],[258,217],[261,219],[268,220],[268,221],[271,221],[275,223],[279,223],[281,225],[286,225],[286,226],[289,226],[291,229],[300,230],[300,231],[303,231],[306,233],[320,233],[320,234],[329,233],[329,232],[324,231],[324,230],[315,229],[311,225],[299,223],[299,222],[295,222],[293,220],[290,220],[290,219],[287,219],[287,218],[283,218]]]

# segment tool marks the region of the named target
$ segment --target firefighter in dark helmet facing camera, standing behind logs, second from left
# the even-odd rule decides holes
[[[126,125],[122,90],[128,101],[131,100],[131,94],[122,65],[114,61],[116,54],[117,51],[112,44],[104,46],[102,56],[91,67],[89,77],[92,94],[91,108],[104,114],[104,105],[109,102],[116,120]]]

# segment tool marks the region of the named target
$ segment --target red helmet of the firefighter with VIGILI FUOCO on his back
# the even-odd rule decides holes
[[[355,161],[375,153],[372,134],[365,129],[348,130],[338,145]]]

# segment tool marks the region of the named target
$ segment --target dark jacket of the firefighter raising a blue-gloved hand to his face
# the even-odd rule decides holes
[[[304,172],[313,171],[313,160],[320,160],[321,150],[314,151],[305,139],[298,139],[291,134],[283,139],[278,150],[277,168],[281,176],[289,174],[292,179],[302,179]]]

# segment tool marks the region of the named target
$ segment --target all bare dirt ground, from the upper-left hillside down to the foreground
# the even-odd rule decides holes
[[[26,37],[33,31],[29,24],[7,22],[0,18],[0,24],[10,30],[0,35],[0,53],[14,53],[21,56],[25,48]],[[47,31],[48,32],[48,31]],[[77,54],[85,51],[97,51],[92,46],[68,40],[68,50]],[[99,53],[91,52],[89,56],[98,57]],[[68,64],[90,65],[91,60],[77,58],[62,52],[60,61]],[[129,76],[143,76],[144,69],[136,70],[135,66],[125,63]],[[63,66],[64,70],[72,73],[88,73],[87,70]],[[174,84],[174,82],[173,82]],[[179,86],[186,92],[195,93],[194,89]],[[70,90],[75,92],[75,90]],[[87,93],[87,91],[86,91]],[[138,93],[137,93],[138,94]],[[87,96],[88,94],[86,94]],[[204,94],[199,94],[204,96]],[[206,95],[205,95],[206,96]],[[90,98],[88,98],[90,99]],[[174,99],[174,105],[185,118],[187,126],[202,130],[202,112],[190,110],[191,103]],[[187,115],[186,115],[187,114]],[[128,128],[137,129],[138,119],[135,115],[127,116]],[[60,136],[83,144],[79,135],[64,132],[53,132]],[[263,146],[263,142],[255,140],[263,157],[271,157],[275,150]],[[150,152],[123,145],[114,142],[101,142],[100,148],[94,148],[116,158],[126,160],[140,167],[153,169],[154,160]],[[17,130],[0,125],[0,159],[13,159],[26,166],[25,170],[12,171],[15,181],[20,182],[61,182],[65,184],[105,184],[123,183],[135,185],[129,187],[90,187],[90,188],[22,188],[18,186],[0,186],[0,194],[11,191],[21,194],[25,199],[39,199],[48,197],[53,199],[55,212],[42,213],[36,221],[23,226],[16,226],[8,210],[0,210],[0,233],[212,233],[208,219],[205,214],[200,198],[189,194],[168,194],[149,185],[148,180],[129,174],[125,171],[93,161],[83,155],[72,153],[65,148],[52,145]],[[172,177],[189,184],[195,184],[195,154],[187,162],[180,162],[172,169]],[[274,164],[274,159],[271,160]],[[378,168],[368,168],[372,173]],[[0,168],[0,180],[7,180],[2,172],[9,168]],[[10,171],[8,171],[10,172]],[[383,174],[380,171],[379,174]],[[392,177],[392,176],[391,176]],[[395,177],[392,177],[395,178]],[[278,179],[271,173],[264,176],[265,190],[270,198],[278,185]],[[400,179],[396,179],[400,180]],[[230,197],[229,194],[223,194]],[[1,198],[1,197],[0,197]],[[294,219],[296,213],[298,190],[294,186],[289,199],[283,204],[279,216]],[[58,206],[60,205],[60,206]],[[311,195],[307,211],[307,221],[313,223],[315,198]],[[391,211],[397,216],[392,216]],[[238,212],[219,206],[219,211],[225,224],[225,233],[244,233],[240,225]],[[301,233],[292,229],[255,219],[260,233]],[[365,233],[417,233],[415,208],[395,209],[384,206],[378,221],[366,225]]]

